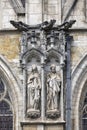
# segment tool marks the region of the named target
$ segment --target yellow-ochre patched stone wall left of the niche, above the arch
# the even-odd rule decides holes
[[[22,80],[19,61],[20,37],[21,34],[17,31],[0,32],[0,55],[5,57],[13,72]]]

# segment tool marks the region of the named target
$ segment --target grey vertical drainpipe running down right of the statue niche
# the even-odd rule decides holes
[[[66,129],[72,129],[72,121],[71,121],[71,68],[70,68],[70,61],[71,61],[71,36],[67,36],[67,74],[66,74]]]

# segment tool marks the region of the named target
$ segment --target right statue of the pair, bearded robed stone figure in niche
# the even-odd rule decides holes
[[[51,65],[51,72],[47,75],[47,111],[59,111],[61,77],[56,72],[56,66]]]

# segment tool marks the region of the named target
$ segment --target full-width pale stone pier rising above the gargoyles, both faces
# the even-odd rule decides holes
[[[60,0],[28,0],[26,2],[26,22],[38,24],[45,20],[56,19],[61,23],[61,1]]]

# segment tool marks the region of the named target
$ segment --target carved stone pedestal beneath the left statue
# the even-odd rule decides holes
[[[40,117],[40,110],[28,109],[27,110],[27,117],[30,117],[30,118]]]

